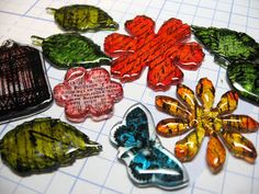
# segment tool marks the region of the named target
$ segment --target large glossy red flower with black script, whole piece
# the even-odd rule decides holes
[[[148,87],[167,90],[183,78],[178,66],[195,70],[203,60],[201,46],[187,42],[190,26],[178,19],[166,21],[156,34],[155,22],[138,15],[125,23],[125,30],[130,36],[113,33],[104,42],[105,53],[114,57],[111,73],[122,82],[136,80],[147,66]]]

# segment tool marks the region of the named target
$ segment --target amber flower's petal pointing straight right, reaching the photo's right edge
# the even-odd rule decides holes
[[[257,132],[259,123],[247,115],[228,115],[222,117],[223,127],[226,130],[237,130],[239,133]]]

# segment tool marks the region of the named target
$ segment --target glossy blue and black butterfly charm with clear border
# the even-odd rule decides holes
[[[185,169],[160,144],[151,114],[144,105],[135,104],[125,113],[123,121],[112,128],[110,140],[119,147],[117,157],[137,185],[166,190],[188,185]]]

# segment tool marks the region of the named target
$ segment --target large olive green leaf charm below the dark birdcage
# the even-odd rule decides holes
[[[49,117],[25,122],[0,140],[2,161],[23,176],[52,172],[101,150],[74,126]]]

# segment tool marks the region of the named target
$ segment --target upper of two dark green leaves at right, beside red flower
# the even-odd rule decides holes
[[[192,26],[192,32],[224,67],[232,62],[259,61],[259,44],[246,33],[200,26]]]

